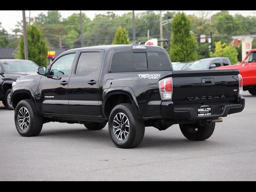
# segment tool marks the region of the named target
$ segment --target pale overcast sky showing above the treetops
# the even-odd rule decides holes
[[[90,11],[86,11],[86,10],[82,10],[83,13],[86,14],[86,16],[88,16],[90,19],[93,19],[95,14],[105,14],[106,12],[108,12],[109,10],[90,10]],[[198,10],[183,10],[186,14],[195,14],[198,15],[199,11]],[[31,17],[35,17],[37,16],[39,13],[43,12],[44,14],[47,14],[47,10],[32,10],[31,11]],[[60,10],[60,13],[62,15],[62,17],[66,18],[68,16],[70,16],[73,13],[79,13],[80,11],[74,11],[74,10]],[[126,12],[131,12],[129,10],[114,10],[112,11],[115,14],[118,15],[122,15],[123,13]],[[145,10],[136,10],[135,13],[141,13],[141,12],[145,12]],[[166,12],[166,11],[164,11]],[[172,12],[172,10],[171,10]],[[210,14],[215,14],[216,12],[219,12],[218,10],[212,10],[209,11]],[[248,10],[230,10],[229,11],[230,14],[234,15],[236,13],[238,14],[242,14],[243,16],[256,16],[256,10],[252,10],[252,11],[248,11]],[[26,11],[26,16],[29,16],[29,11]],[[21,10],[0,10],[0,22],[2,23],[2,27],[5,28],[5,30],[7,30],[9,33],[12,33],[12,29],[15,28],[15,25],[17,23],[17,21],[22,20],[22,11]]]

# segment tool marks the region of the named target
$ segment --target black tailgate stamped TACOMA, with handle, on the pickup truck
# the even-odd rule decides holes
[[[239,70],[173,71],[174,106],[235,103],[238,74]]]

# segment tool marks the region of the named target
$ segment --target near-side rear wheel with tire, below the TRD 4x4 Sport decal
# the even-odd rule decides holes
[[[134,148],[143,140],[144,121],[136,116],[132,104],[119,104],[110,112],[108,131],[117,147]]]

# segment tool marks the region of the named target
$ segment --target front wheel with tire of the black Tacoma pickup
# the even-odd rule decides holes
[[[26,113],[27,117],[29,115],[29,118],[26,118],[26,122],[21,122],[22,119],[24,120],[24,118],[20,117],[24,116],[24,113]],[[18,118],[20,119],[20,121],[18,121]],[[21,136],[37,136],[42,130],[43,117],[40,114],[38,114],[34,102],[30,99],[26,99],[20,101],[16,106],[14,111],[14,122],[16,129]],[[20,125],[22,128],[20,127]]]

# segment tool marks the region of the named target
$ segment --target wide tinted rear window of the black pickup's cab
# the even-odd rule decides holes
[[[113,54],[110,72],[135,72],[148,70],[171,70],[171,64],[167,55],[161,51],[121,51]]]

